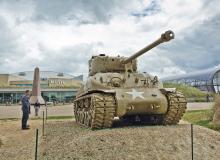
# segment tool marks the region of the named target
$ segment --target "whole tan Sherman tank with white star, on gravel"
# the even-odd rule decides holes
[[[186,110],[186,98],[175,88],[163,88],[157,76],[140,73],[137,58],[174,39],[166,31],[130,57],[100,54],[89,60],[89,76],[74,100],[77,123],[91,129],[112,127],[114,119],[174,125]]]

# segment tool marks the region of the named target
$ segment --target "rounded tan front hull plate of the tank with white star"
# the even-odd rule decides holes
[[[168,108],[166,96],[157,88],[117,89],[115,93],[117,117],[165,114]]]

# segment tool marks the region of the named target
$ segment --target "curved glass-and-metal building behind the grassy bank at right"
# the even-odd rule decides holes
[[[162,79],[163,82],[186,84],[202,91],[220,93],[220,67]]]

